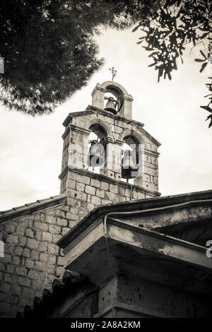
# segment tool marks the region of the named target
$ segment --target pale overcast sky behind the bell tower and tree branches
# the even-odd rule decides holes
[[[54,114],[28,117],[0,112],[0,211],[59,194],[62,122],[69,112],[86,109],[96,83],[111,79],[134,97],[133,118],[160,141],[159,191],[163,196],[212,189],[212,129],[204,120],[207,72],[194,62],[199,54],[187,52],[172,81],[157,83],[157,72],[141,45],[139,32],[107,30],[98,37],[102,67]]]

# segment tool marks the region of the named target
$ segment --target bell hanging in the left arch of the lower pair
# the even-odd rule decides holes
[[[98,141],[91,141],[88,153],[88,166],[98,167],[104,163],[105,149]]]

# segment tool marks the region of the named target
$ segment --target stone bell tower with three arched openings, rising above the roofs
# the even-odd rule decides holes
[[[160,143],[143,129],[141,122],[132,119],[133,97],[114,81],[98,83],[91,95],[92,105],[83,112],[70,113],[63,123],[61,194],[68,194],[81,214],[103,204],[160,196]],[[105,152],[100,167],[93,169],[89,167],[92,135]],[[132,169],[135,175],[129,177],[130,183],[126,175],[129,172],[123,170],[123,165],[129,164],[124,146],[133,146],[129,158],[137,165]]]

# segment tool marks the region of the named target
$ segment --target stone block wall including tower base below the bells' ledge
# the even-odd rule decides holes
[[[131,190],[130,184],[93,172],[71,170],[63,179],[67,203],[0,223],[0,240],[5,243],[0,316],[15,316],[63,275],[63,254],[56,243],[93,208],[151,197],[139,186]]]

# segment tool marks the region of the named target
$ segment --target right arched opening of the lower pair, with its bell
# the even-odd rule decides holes
[[[122,146],[122,181],[134,184],[142,173],[142,145],[133,136],[125,136]]]

